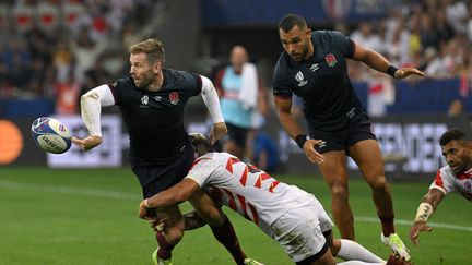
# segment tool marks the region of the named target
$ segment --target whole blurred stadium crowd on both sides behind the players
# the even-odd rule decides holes
[[[1,1],[0,99],[64,99],[63,106],[56,105],[57,112],[78,112],[76,105],[68,109],[68,100],[127,73],[129,45],[150,36],[153,19],[165,8],[165,0]],[[403,0],[384,20],[333,28],[398,67],[418,68],[432,79],[460,77],[461,86],[470,89],[469,1]],[[350,76],[366,82],[376,73],[361,64],[350,68]]]

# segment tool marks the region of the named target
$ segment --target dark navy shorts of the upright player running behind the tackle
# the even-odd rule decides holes
[[[315,146],[315,149],[320,154],[331,150],[345,150],[349,155],[347,148],[355,143],[368,138],[377,140],[366,115],[357,115],[351,118],[340,130],[311,129],[309,135],[311,138],[324,141],[324,144]]]

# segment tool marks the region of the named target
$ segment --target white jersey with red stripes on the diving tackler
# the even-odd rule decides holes
[[[199,157],[188,176],[213,200],[253,221],[272,236],[270,225],[287,210],[303,207],[314,196],[288,185],[227,153]]]

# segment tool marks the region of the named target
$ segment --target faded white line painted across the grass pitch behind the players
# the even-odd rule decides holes
[[[32,184],[32,183],[22,183],[22,182],[4,181],[4,180],[0,180],[0,188],[10,189],[10,190],[30,190],[36,192],[49,192],[49,193],[80,195],[80,196],[108,197],[108,198],[133,200],[133,201],[141,200],[140,194],[131,193],[131,192],[105,191],[105,190],[97,190],[97,189],[72,188],[72,186],[64,186],[64,185]],[[363,222],[377,224],[379,221],[378,218],[367,217],[367,216],[355,216],[354,218],[356,221],[363,221]],[[397,225],[401,225],[401,226],[411,226],[413,224],[413,221],[411,220],[403,220],[403,219],[396,219],[394,221]],[[451,230],[472,232],[472,227],[465,227],[465,226],[456,226],[456,225],[441,224],[441,222],[428,222],[428,226],[435,228],[445,228]]]

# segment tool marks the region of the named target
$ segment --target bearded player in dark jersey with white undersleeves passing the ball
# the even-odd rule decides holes
[[[72,137],[83,150],[102,143],[101,108],[118,105],[130,138],[130,161],[144,197],[178,183],[187,176],[194,157],[193,147],[184,128],[184,108],[192,96],[202,95],[213,120],[211,140],[226,133],[217,94],[212,82],[202,75],[164,68],[164,46],[146,39],[130,47],[130,76],[104,84],[81,97],[82,119],[90,136]],[[196,198],[197,200],[197,198]],[[153,253],[155,262],[172,264],[172,250],[184,236],[184,220],[176,205],[157,213],[169,221],[157,232],[160,245]],[[202,217],[205,213],[199,212]],[[229,250],[238,264],[246,255],[239,248],[228,219],[211,226],[216,239]]]

